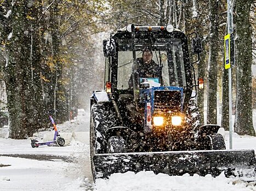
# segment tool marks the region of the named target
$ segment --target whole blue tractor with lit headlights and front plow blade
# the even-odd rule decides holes
[[[202,44],[196,33],[190,36],[172,25],[129,25],[103,40],[105,87],[93,92],[90,103],[94,178],[143,170],[202,176],[254,170],[253,150],[225,150],[223,128],[200,124],[196,96],[202,80],[196,80],[194,64]],[[158,76],[138,73],[145,47]]]

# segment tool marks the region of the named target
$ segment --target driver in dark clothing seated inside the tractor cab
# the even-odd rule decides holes
[[[152,51],[149,49],[144,49],[141,58],[137,58],[136,62],[138,64],[138,77],[149,78],[149,77],[160,77],[160,67],[152,60]],[[129,79],[129,87],[133,88],[133,75]]]

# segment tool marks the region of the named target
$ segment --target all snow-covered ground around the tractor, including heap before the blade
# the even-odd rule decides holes
[[[58,130],[60,134],[88,132],[88,116],[84,120],[60,124]],[[0,129],[1,134],[2,136],[5,134],[3,129]],[[43,134],[39,133],[37,136]],[[126,172],[113,174],[109,180],[98,179],[94,184],[90,172],[88,139],[85,137],[82,142],[72,139],[70,144],[64,147],[32,148],[30,140],[0,138],[0,190],[256,190],[255,183],[244,183],[237,178],[225,178],[223,174],[213,178],[198,175],[168,176],[155,175],[152,172],[138,174]],[[228,147],[228,132],[225,141]],[[235,134],[233,141],[234,148],[256,150],[255,137]],[[22,158],[21,155],[7,157],[7,154],[22,154]],[[32,156],[45,156],[45,158],[36,160],[31,159]]]

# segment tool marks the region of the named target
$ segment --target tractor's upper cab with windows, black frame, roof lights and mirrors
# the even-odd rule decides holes
[[[192,50],[199,53],[202,50],[201,41],[199,38],[195,38],[195,41],[197,44],[193,44]],[[187,91],[192,89],[187,38],[171,25],[136,26],[133,32],[131,26],[124,27],[111,39],[104,40],[103,46],[106,57],[105,82],[111,82],[112,91],[130,89],[129,80],[134,70],[140,67],[136,59],[143,57],[145,47],[152,52],[152,59],[158,65],[161,74],[157,77],[148,77],[146,81],[150,83],[150,87],[175,86],[183,87]],[[139,88],[144,87],[141,86],[141,83],[145,82],[142,78],[138,76],[136,79]]]

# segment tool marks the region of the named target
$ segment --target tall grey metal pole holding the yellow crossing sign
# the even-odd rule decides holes
[[[233,33],[233,8],[231,6],[231,0],[227,0],[227,34],[230,35]],[[227,48],[227,47],[226,47]],[[227,51],[225,51],[227,52]],[[226,53],[225,53],[226,54]],[[229,55],[226,55],[225,57],[229,57],[229,64],[231,62],[230,59],[230,37],[229,37]],[[225,62],[226,62],[225,58]],[[226,63],[225,63],[226,64]],[[225,65],[226,69],[226,65]],[[233,147],[233,138],[232,138],[232,69],[231,64],[229,65],[229,147],[232,149]]]

